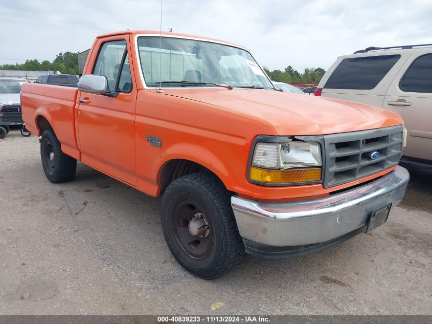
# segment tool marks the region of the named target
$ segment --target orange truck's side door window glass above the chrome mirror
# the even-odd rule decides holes
[[[93,74],[106,76],[108,89],[115,91],[122,59],[126,51],[126,40],[104,43],[99,51]]]

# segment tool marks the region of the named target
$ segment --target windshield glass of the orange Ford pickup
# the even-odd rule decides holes
[[[211,84],[216,83],[274,89],[252,55],[234,46],[162,37],[161,47],[160,37],[141,36],[138,48],[147,87],[159,87],[161,81],[163,88],[217,87]]]

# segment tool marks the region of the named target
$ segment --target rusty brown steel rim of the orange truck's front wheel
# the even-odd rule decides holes
[[[189,229],[189,223],[198,219],[199,214],[203,216],[201,221],[208,226],[205,233],[199,233],[205,237],[192,235]],[[213,230],[209,218],[199,204],[192,200],[181,201],[174,210],[173,225],[175,238],[186,254],[196,260],[202,260],[209,255],[213,246]]]

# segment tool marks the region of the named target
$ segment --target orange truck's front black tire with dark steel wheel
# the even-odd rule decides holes
[[[203,279],[218,278],[244,260],[231,196],[210,172],[180,177],[164,193],[161,218],[168,248],[181,266]],[[188,215],[191,220],[187,220]],[[201,236],[192,235],[190,230],[189,223],[202,222],[197,217],[208,228]]]

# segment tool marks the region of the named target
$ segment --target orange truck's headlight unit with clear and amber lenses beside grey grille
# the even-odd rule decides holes
[[[321,180],[321,146],[314,142],[257,143],[249,178],[263,183]]]

